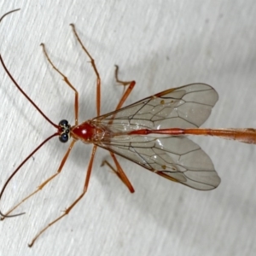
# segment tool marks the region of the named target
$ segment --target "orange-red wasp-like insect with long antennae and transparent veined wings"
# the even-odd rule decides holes
[[[9,15],[19,9],[10,11],[3,15]],[[0,19],[0,22],[3,20]],[[69,82],[67,77],[55,67],[50,60],[49,55],[43,47],[44,55],[47,58],[49,65],[55,69],[64,79],[67,86],[73,90],[75,94],[74,100],[74,116],[75,124],[70,125],[67,120],[63,119],[58,125],[53,123],[44,113],[38,108],[35,102],[26,95],[16,83],[13,76],[9,73],[2,55],[0,61],[3,69],[9,75],[9,78],[14,82],[15,86],[20,90],[23,96],[32,103],[32,105],[44,116],[51,125],[56,129],[55,133],[46,138],[43,143],[39,144],[25,160],[20,163],[15,171],[10,175],[4,183],[3,189],[0,192],[0,200],[3,196],[9,181],[19,172],[20,167],[24,166],[26,161],[35,154],[39,148],[47,143],[53,137],[59,137],[61,143],[67,143],[71,140],[67,153],[61,160],[61,164],[54,175],[49,177],[36,189],[31,195],[26,196],[19,204],[11,208],[9,212],[0,214],[2,219],[7,217],[15,217],[25,212],[18,214],[10,214],[20,204],[32,195],[35,195],[39,190],[49,183],[53,178],[61,173],[67,158],[75,143],[81,141],[83,143],[93,144],[92,153],[90,156],[89,166],[86,172],[84,189],[79,197],[67,207],[58,218],[55,218],[43,230],[38,232],[38,235],[32,239],[29,244],[32,247],[33,243],[39,236],[44,233],[52,224],[55,224],[61,218],[65,217],[73,207],[83,198],[88,189],[90,182],[90,173],[92,171],[93,160],[96,154],[96,148],[105,148],[109,151],[114,166],[108,161],[104,161],[108,167],[119,177],[125,186],[134,192],[134,189],[126,177],[125,172],[119,165],[116,154],[128,160],[137,163],[140,166],[154,172],[162,177],[176,182],[182,183],[193,189],[210,190],[218,187],[220,178],[215,171],[212,160],[198,146],[192,142],[187,135],[209,135],[222,137],[225,139],[237,140],[242,143],[256,143],[256,131],[254,129],[201,129],[201,126],[210,115],[213,106],[218,101],[218,93],[207,84],[188,84],[177,88],[162,91],[154,96],[148,96],[139,102],[135,102],[129,106],[122,108],[126,98],[131,94],[131,90],[135,86],[135,81],[125,82],[118,78],[119,68],[116,66],[115,78],[119,84],[128,86],[121,97],[119,104],[111,113],[101,115],[101,78],[97,71],[96,64],[88,50],[81,42],[75,26],[71,24],[75,38],[77,38],[81,48],[90,58],[91,66],[96,73],[96,112],[97,117],[89,119],[79,124],[79,92]]]

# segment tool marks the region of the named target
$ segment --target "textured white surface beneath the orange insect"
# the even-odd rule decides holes
[[[3,3],[4,2],[4,3]],[[16,2],[16,3],[15,3]],[[102,113],[122,90],[113,79],[135,79],[127,103],[183,84],[211,84],[219,101],[204,127],[256,127],[256,2],[229,1],[2,1],[1,54],[20,86],[50,119],[73,122],[73,92],[45,61],[79,90],[80,121],[96,115],[95,74],[75,41],[76,24],[102,76]],[[0,184],[55,130],[15,89],[0,68]],[[201,137],[222,178],[201,192],[120,160],[136,193],[106,167],[98,150],[88,194],[70,214],[28,248],[38,230],[79,195],[90,146],[78,143],[61,176],[27,201],[26,215],[0,223],[1,255],[254,255],[256,251],[256,148]],[[57,139],[29,160],[3,196],[5,212],[53,174],[65,153]],[[17,210],[17,212],[19,212]]]

